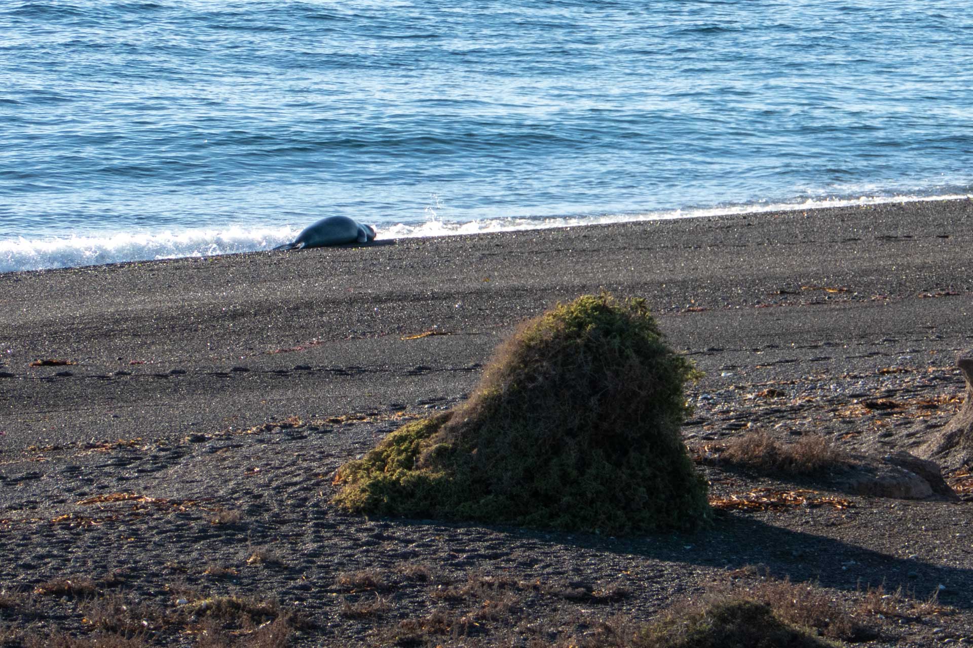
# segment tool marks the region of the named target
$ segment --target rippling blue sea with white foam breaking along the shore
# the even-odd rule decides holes
[[[970,0],[0,2],[0,271],[970,192]]]

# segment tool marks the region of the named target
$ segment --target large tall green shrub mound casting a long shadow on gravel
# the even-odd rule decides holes
[[[465,403],[343,465],[335,501],[545,529],[697,529],[706,487],[679,434],[697,375],[644,300],[583,295],[522,324]]]

